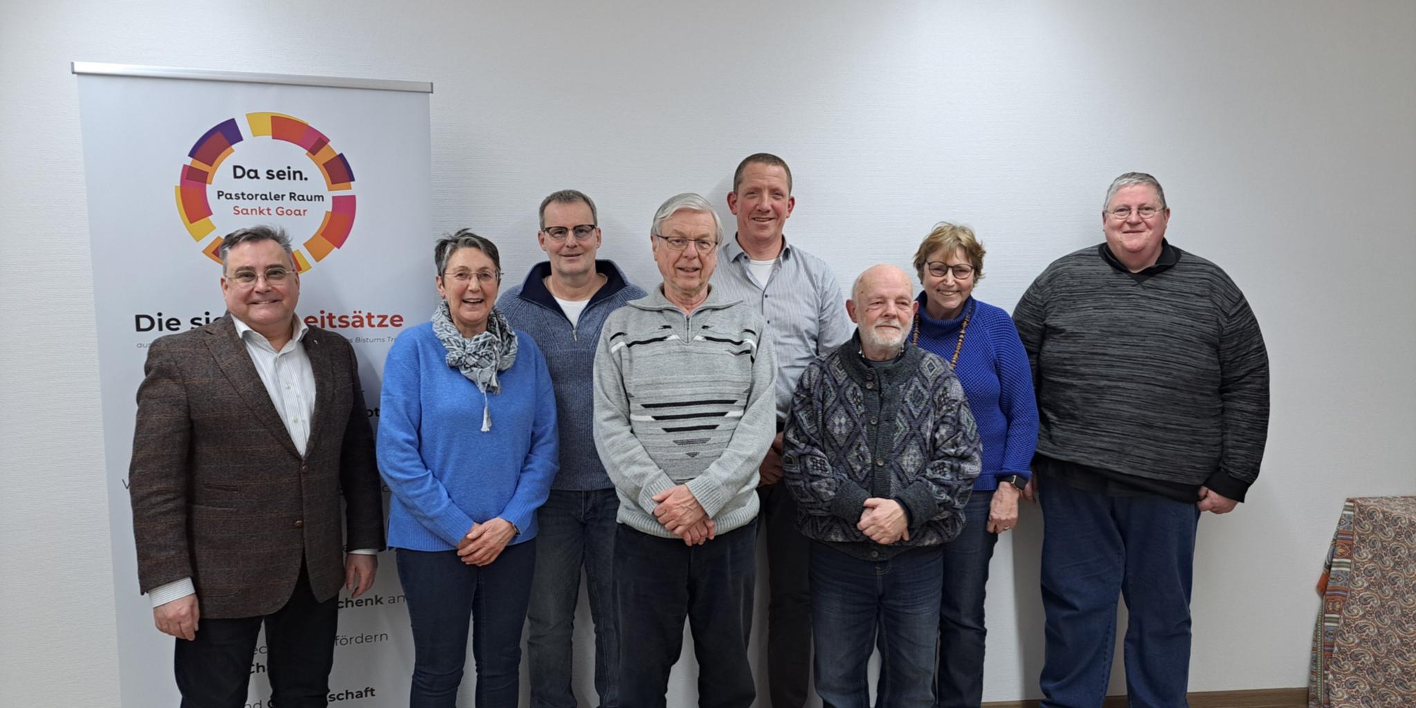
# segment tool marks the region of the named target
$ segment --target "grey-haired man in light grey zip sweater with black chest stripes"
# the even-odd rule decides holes
[[[711,204],[671,197],[650,242],[664,282],[610,314],[595,354],[595,445],[620,498],[620,702],[664,705],[687,617],[700,705],[748,708],[776,361],[762,316],[708,285],[722,242]]]

